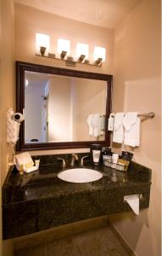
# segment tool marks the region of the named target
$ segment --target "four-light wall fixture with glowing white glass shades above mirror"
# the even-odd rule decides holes
[[[70,41],[59,38],[58,48],[59,57],[55,54],[49,53],[49,36],[36,33],[36,55],[52,58],[55,60],[65,61],[68,66],[75,66],[76,63],[87,64],[91,66],[101,67],[102,62],[105,61],[106,49],[103,47],[94,48],[94,63],[90,63],[88,60],[89,45],[78,43],[76,44],[76,59],[70,56]]]

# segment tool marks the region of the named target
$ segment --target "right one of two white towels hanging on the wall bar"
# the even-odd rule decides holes
[[[131,147],[139,146],[141,119],[137,114],[137,112],[126,113],[126,116],[123,119],[123,125],[125,127],[124,143]]]

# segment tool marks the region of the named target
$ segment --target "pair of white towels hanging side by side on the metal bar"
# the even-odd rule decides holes
[[[115,113],[114,143],[138,147],[140,141],[140,122],[137,112]]]

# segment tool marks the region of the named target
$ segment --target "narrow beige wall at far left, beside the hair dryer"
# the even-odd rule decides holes
[[[6,143],[6,113],[8,108],[14,108],[14,3],[13,0],[2,1],[1,10],[1,90],[0,90],[0,170],[1,184],[8,172],[7,156],[12,157],[12,150]],[[0,212],[2,207],[0,206]],[[2,220],[0,219],[0,233],[2,234]],[[1,240],[2,241],[2,240]],[[0,241],[0,255],[13,255],[12,241]],[[3,251],[3,252],[2,252]]]

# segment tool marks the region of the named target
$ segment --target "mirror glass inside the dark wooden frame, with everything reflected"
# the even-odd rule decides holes
[[[107,82],[25,71],[25,143],[103,141]]]

